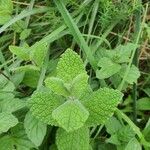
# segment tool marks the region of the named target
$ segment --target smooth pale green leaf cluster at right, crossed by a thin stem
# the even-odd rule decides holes
[[[123,78],[131,52],[134,48],[134,44],[128,43],[125,46],[118,46],[115,50],[107,50],[105,56],[100,58],[98,63],[101,69],[96,71],[97,77],[99,79],[105,79],[118,74],[120,78]],[[129,84],[136,83],[139,76],[140,72],[138,68],[132,65],[126,77],[126,82]]]

